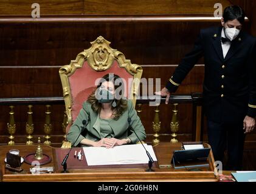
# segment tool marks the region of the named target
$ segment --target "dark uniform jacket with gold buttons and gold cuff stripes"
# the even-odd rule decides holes
[[[224,58],[222,29],[201,30],[192,52],[185,55],[165,87],[175,92],[204,56],[203,104],[207,118],[215,122],[241,122],[246,115],[256,116],[256,39],[241,31]]]

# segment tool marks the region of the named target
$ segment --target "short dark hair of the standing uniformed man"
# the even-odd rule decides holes
[[[238,5],[226,7],[223,12],[224,22],[237,19],[241,24],[244,23],[245,13],[244,10]]]

